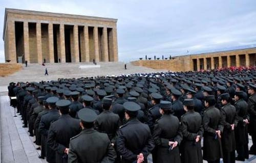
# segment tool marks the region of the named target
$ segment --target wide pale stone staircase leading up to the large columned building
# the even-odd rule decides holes
[[[36,81],[41,80],[50,81],[57,80],[58,78],[79,78],[91,76],[111,76],[122,74],[135,74],[135,73],[151,73],[162,72],[161,69],[152,69],[142,66],[135,66],[126,63],[127,69],[124,69],[123,62],[99,62],[100,68],[79,68],[80,65],[92,65],[93,63],[46,63],[46,66],[41,64],[31,63],[28,67],[23,65],[22,70],[8,76],[0,77],[0,86],[7,86],[10,82],[18,81]],[[45,68],[48,69],[49,76],[45,76]]]

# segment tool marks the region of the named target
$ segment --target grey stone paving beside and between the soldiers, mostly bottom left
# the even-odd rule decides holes
[[[20,120],[20,115],[18,115],[18,117],[13,117],[13,115],[14,108],[9,106],[8,96],[0,96],[2,162],[46,162],[46,159],[38,158],[40,151],[36,150],[36,145],[33,144],[34,137],[29,136],[29,133],[27,132],[28,128],[22,127],[23,124]],[[251,140],[249,145],[251,145]],[[148,158],[148,160],[149,162],[152,162],[151,156]],[[250,155],[250,159],[245,162],[255,163],[256,156]]]

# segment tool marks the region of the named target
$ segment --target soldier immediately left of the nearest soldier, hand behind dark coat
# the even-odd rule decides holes
[[[70,138],[80,132],[79,120],[69,115],[69,100],[59,100],[56,106],[59,108],[60,117],[51,123],[47,143],[55,151],[56,163],[68,162]]]

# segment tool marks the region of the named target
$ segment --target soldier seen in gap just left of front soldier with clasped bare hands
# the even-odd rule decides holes
[[[152,97],[153,107],[150,108],[148,111],[147,124],[150,127],[151,132],[153,132],[155,121],[161,117],[159,109],[160,109],[160,100],[163,97],[158,93],[152,93],[151,97]]]

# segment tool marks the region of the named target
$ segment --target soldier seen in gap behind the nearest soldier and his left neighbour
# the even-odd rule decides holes
[[[70,93],[70,96],[71,96],[71,99],[72,99],[72,103],[69,105],[69,114],[73,118],[75,118],[76,117],[76,113],[81,108],[83,108],[83,105],[78,101],[78,95],[79,95],[78,91],[72,91]]]

